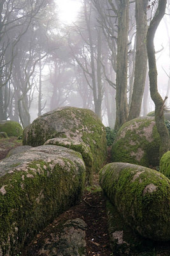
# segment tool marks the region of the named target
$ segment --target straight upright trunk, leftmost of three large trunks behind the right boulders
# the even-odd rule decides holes
[[[127,47],[129,29],[129,0],[122,0],[118,8],[118,36],[117,36],[117,93],[116,93],[116,122],[118,129],[127,121]]]

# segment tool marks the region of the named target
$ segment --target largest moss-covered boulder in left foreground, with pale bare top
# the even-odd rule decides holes
[[[69,148],[45,145],[0,163],[0,255],[14,256],[81,198],[85,164]]]

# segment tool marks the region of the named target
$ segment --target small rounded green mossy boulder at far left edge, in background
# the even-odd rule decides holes
[[[22,134],[22,126],[15,121],[0,121],[0,132],[6,132],[8,136],[18,137]]]

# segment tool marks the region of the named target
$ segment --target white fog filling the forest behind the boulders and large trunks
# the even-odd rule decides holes
[[[113,1],[114,6],[109,0],[3,2],[0,3],[0,120],[15,120],[27,127],[47,111],[74,106],[92,109],[104,125],[114,128],[118,109],[115,100],[118,1]],[[148,25],[156,9],[157,1],[149,1]],[[168,97],[167,108],[170,106],[169,24],[168,2],[154,40],[158,89],[163,99]],[[135,3],[131,3],[126,84],[129,109],[136,61],[135,38]],[[147,75],[143,97],[141,116],[155,109]]]

